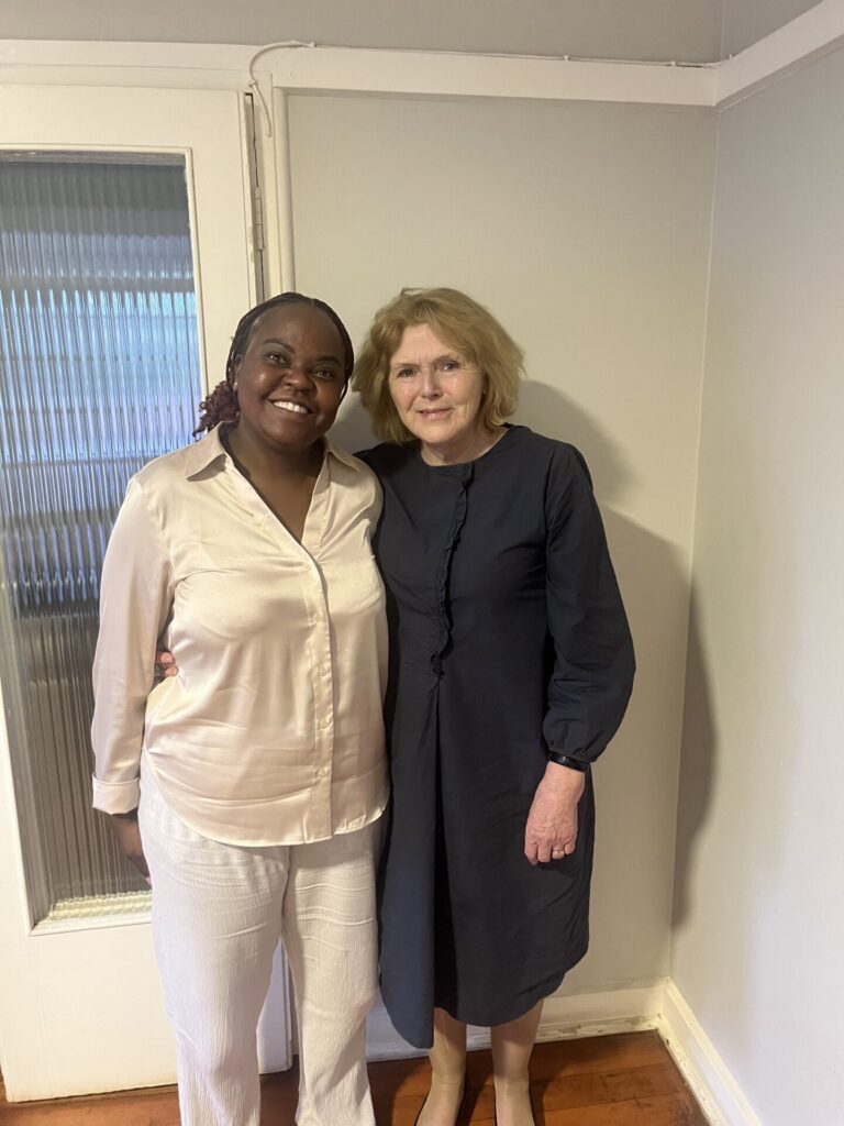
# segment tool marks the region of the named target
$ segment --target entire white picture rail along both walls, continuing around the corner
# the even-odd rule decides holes
[[[359,47],[0,39],[0,84],[605,101],[725,109],[844,46],[844,0],[820,0],[721,63],[648,63]],[[252,70],[250,71],[250,66]]]

